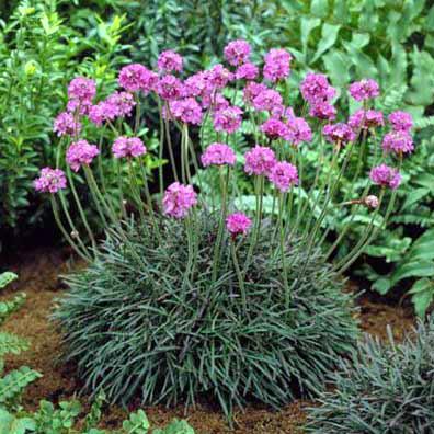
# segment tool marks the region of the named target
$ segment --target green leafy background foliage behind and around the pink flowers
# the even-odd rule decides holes
[[[0,13],[0,231],[23,233],[47,217],[31,181],[37,167],[53,163],[50,126],[71,76],[113,82],[115,68],[127,58],[153,65],[168,47],[179,49],[186,69],[194,70],[220,57],[227,41],[243,37],[254,53],[288,48],[296,58],[294,83],[310,69],[324,71],[339,87],[372,77],[381,84],[385,112],[399,105],[413,114],[416,151],[404,162],[391,225],[356,271],[380,294],[415,282],[412,298],[418,313],[425,312],[434,294],[433,255],[419,248],[430,242],[432,232],[424,233],[434,220],[432,2],[25,0],[7,2]],[[346,95],[338,104],[355,108]],[[336,225],[332,235],[339,230]]]

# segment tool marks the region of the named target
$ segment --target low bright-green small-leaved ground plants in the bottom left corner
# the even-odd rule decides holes
[[[0,274],[0,289],[16,278],[16,274]],[[25,294],[12,300],[0,302],[0,323],[3,323],[24,302]],[[13,334],[0,332],[0,369],[4,367],[4,355],[19,354],[27,350],[28,343]],[[2,434],[147,434],[150,433],[148,418],[142,410],[130,413],[121,430],[100,430],[102,406],[105,401],[100,393],[88,414],[82,415],[79,401],[62,401],[54,406],[42,400],[38,410],[28,412],[21,406],[25,388],[42,375],[26,366],[11,370],[0,378],[0,433]],[[156,429],[152,434],[194,434],[194,430],[184,420],[174,420],[164,429]]]

